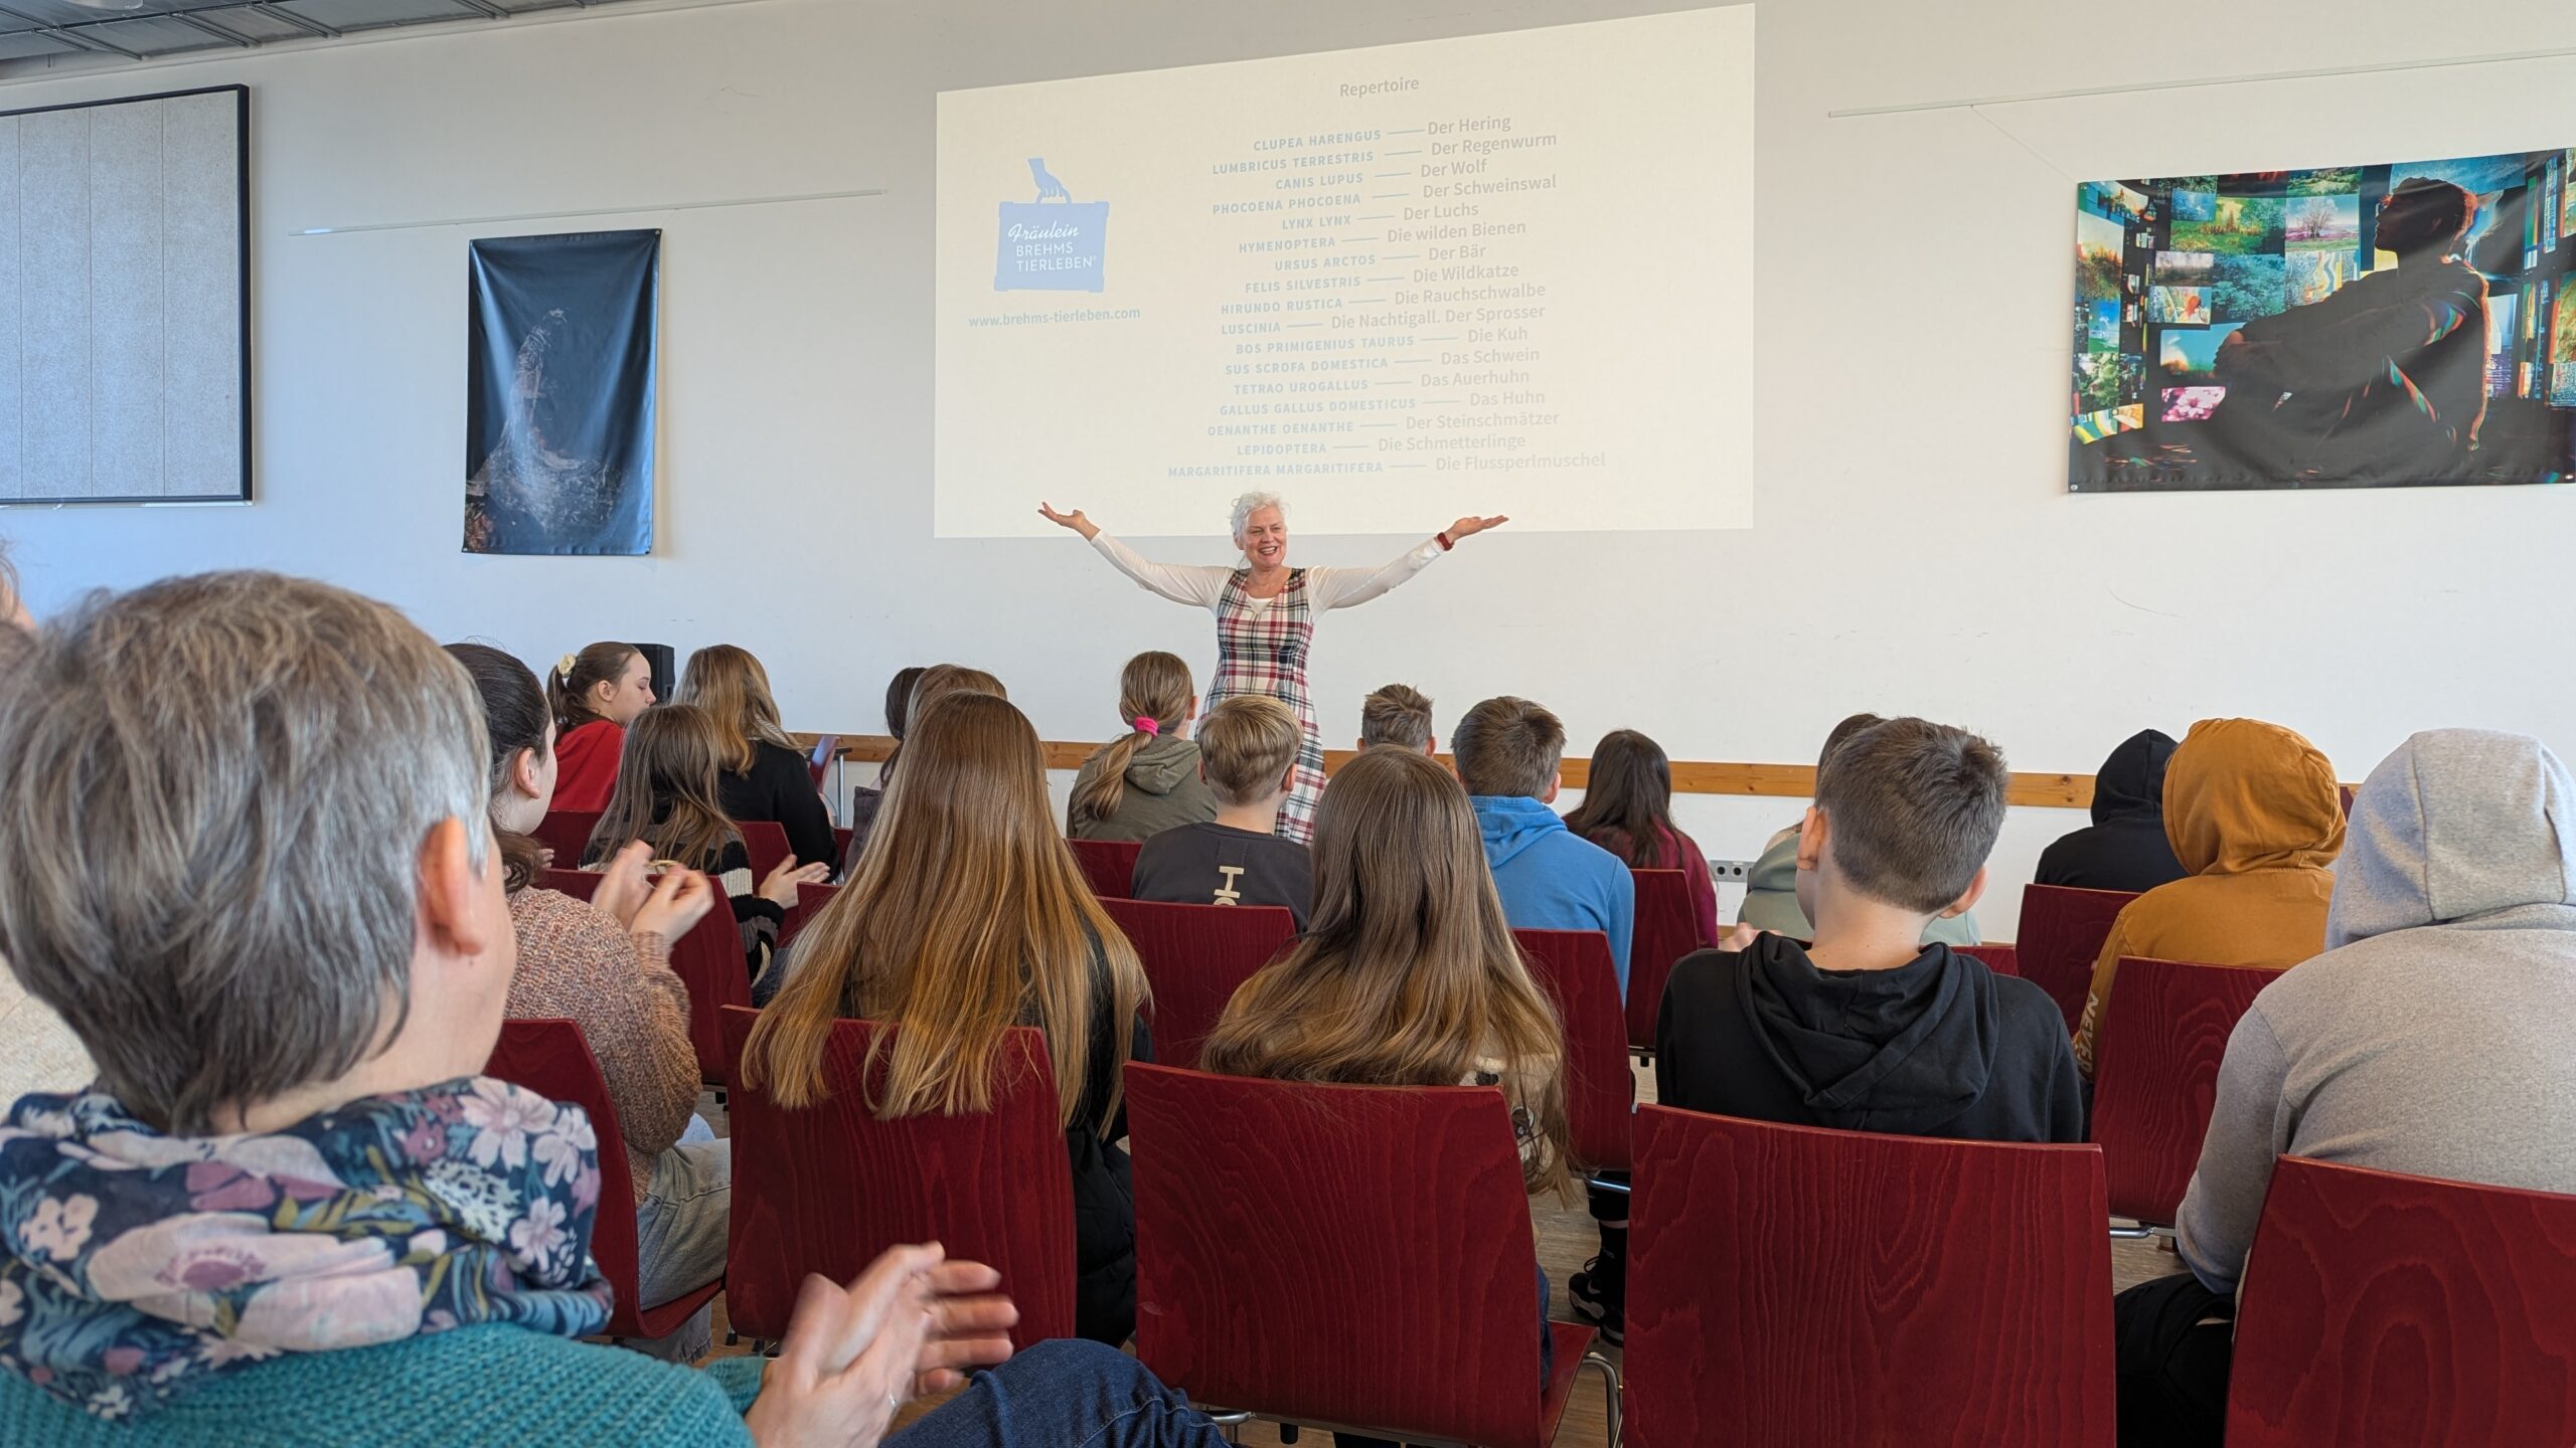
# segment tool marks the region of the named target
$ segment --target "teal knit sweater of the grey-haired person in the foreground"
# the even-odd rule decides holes
[[[175,1404],[100,1422],[0,1373],[0,1443],[144,1448],[747,1448],[760,1358],[703,1373],[621,1348],[477,1324],[384,1348],[289,1353],[234,1368]]]

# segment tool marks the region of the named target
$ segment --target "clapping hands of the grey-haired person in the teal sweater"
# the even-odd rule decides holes
[[[1010,1358],[1020,1319],[1002,1275],[948,1262],[938,1242],[894,1247],[848,1288],[806,1278],[778,1360],[742,1415],[760,1448],[871,1448],[907,1396],[956,1386],[958,1368]]]

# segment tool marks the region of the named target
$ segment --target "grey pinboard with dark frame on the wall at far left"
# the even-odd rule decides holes
[[[0,508],[250,502],[250,88],[0,111]]]

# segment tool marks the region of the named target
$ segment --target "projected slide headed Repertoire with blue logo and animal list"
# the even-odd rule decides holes
[[[1749,526],[1749,5],[938,98],[938,533]]]

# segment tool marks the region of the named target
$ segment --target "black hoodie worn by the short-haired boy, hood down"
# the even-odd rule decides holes
[[[1819,971],[1793,940],[1672,966],[1656,1100],[1687,1110],[1971,1141],[2081,1141],[2048,992],[1950,946],[1893,971]]]

